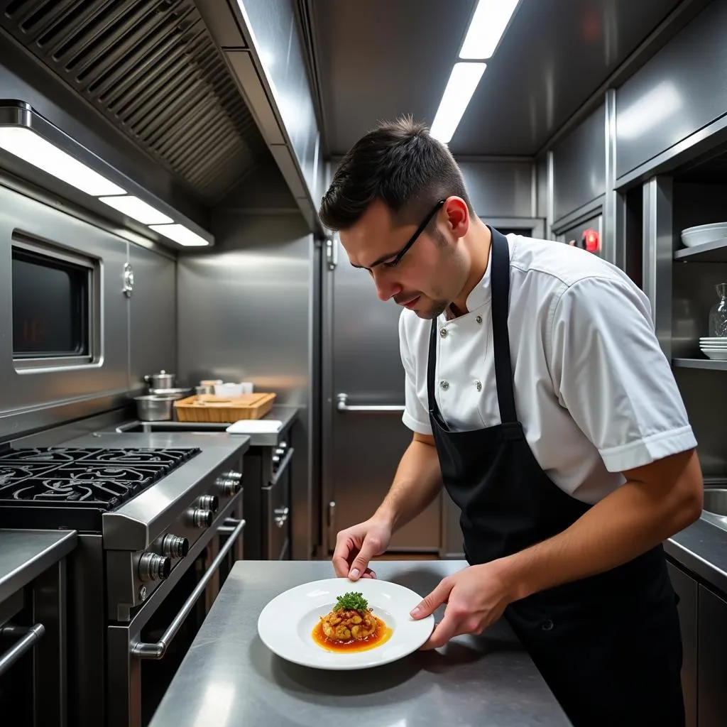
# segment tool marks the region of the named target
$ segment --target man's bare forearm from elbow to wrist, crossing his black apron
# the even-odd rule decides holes
[[[561,534],[502,558],[512,600],[619,566],[699,518],[696,454],[675,455],[673,461],[681,471],[674,483],[627,481]]]

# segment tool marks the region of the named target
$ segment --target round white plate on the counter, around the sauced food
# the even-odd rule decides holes
[[[368,651],[326,651],[313,640],[311,632],[318,619],[333,608],[337,596],[350,591],[364,595],[374,616],[383,619],[392,630],[391,636],[381,646]],[[422,598],[398,583],[375,578],[356,582],[348,578],[312,581],[273,598],[257,619],[257,632],[270,651],[305,667],[333,670],[378,667],[417,651],[430,637],[434,616],[417,621],[409,616],[409,611]]]

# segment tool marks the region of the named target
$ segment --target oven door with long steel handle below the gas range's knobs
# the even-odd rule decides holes
[[[131,622],[108,627],[108,727],[148,725],[240,553],[244,526],[235,517],[217,523],[171,590],[159,588]]]

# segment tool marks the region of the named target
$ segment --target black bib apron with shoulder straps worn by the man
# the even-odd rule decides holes
[[[490,230],[502,424],[449,430],[435,398],[436,319],[427,364],[430,422],[444,486],[461,510],[470,565],[553,537],[590,507],[548,478],[518,421],[507,330],[510,251],[507,239]],[[683,727],[681,637],[661,545],[606,573],[515,601],[504,615],[574,727]]]

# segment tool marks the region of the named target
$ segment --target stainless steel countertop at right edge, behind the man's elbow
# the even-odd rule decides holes
[[[727,595],[727,531],[703,516],[664,542],[664,550],[684,568]]]

